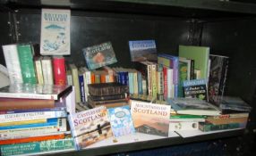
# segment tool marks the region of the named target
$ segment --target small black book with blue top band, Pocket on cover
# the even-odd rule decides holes
[[[186,98],[198,98],[208,101],[207,80],[183,80],[183,94]]]

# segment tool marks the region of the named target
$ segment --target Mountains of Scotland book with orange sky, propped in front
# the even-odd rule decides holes
[[[137,132],[168,136],[170,105],[131,100],[131,113]]]

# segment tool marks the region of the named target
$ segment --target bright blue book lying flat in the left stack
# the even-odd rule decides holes
[[[47,119],[47,122],[43,123],[34,123],[34,124],[24,124],[24,125],[13,125],[13,126],[4,126],[0,127],[0,130],[7,130],[7,129],[17,129],[17,128],[26,128],[26,127],[48,127],[48,126],[57,126],[58,119]]]

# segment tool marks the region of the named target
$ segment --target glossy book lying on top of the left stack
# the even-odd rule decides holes
[[[11,84],[0,88],[0,97],[58,100],[64,94],[72,92],[72,89],[72,86]]]

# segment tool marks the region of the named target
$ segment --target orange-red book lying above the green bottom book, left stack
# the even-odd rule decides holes
[[[3,145],[3,144],[21,144],[21,143],[39,142],[39,141],[56,140],[56,139],[64,139],[64,134],[61,134],[61,135],[44,135],[44,136],[25,137],[25,138],[19,138],[19,139],[0,140],[0,145]]]

